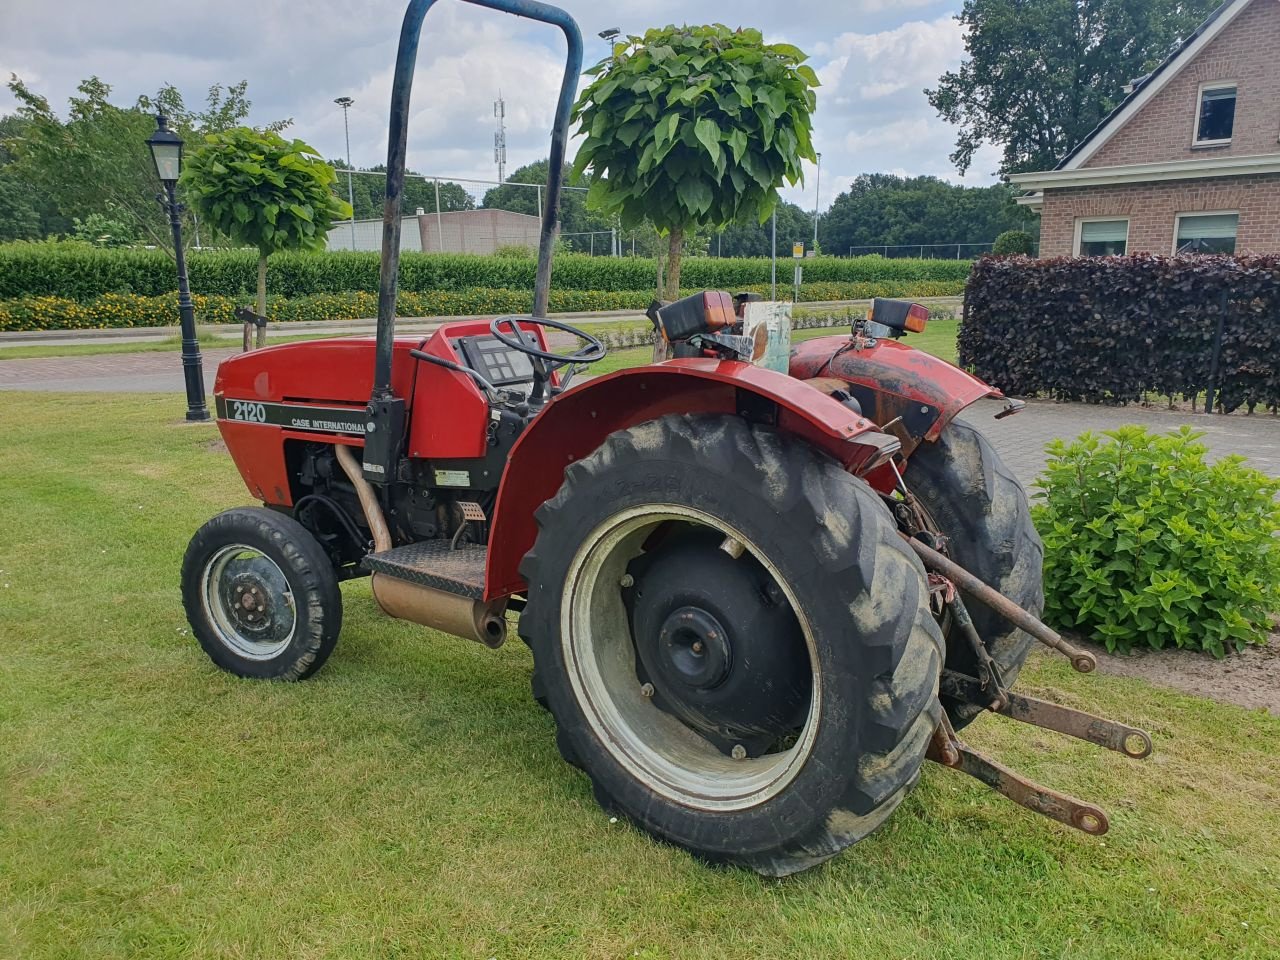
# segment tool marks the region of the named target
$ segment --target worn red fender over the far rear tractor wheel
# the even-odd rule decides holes
[[[863,412],[877,424],[901,417],[893,435],[910,456],[922,440],[936,440],[956,413],[983,397],[1004,397],[945,360],[891,339],[855,346],[849,337],[817,337],[791,352],[791,376],[833,376],[850,385]]]

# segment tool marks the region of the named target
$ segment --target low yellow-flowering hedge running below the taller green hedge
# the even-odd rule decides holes
[[[741,288],[736,288],[741,289]],[[748,285],[768,296],[768,285]],[[945,297],[959,294],[955,282],[922,283],[815,283],[801,287],[801,301],[869,300],[870,297]],[[692,291],[687,291],[692,292]],[[790,288],[780,291],[790,293]],[[649,291],[552,291],[553,312],[590,310],[644,310]],[[236,323],[234,308],[244,297],[192,294],[196,321]],[[402,292],[397,301],[399,316],[470,316],[522,314],[532,308],[529,289],[467,289]],[[268,297],[268,316],[275,323],[293,320],[352,320],[378,314],[378,294],[366,292],[319,293],[311,297]],[[0,332],[81,330],[113,326],[173,326],[178,319],[178,294],[140,297],[132,293],[105,293],[84,303],[64,297],[20,297],[0,301]]]

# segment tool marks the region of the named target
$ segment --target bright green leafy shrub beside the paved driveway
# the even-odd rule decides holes
[[[1106,644],[1222,657],[1280,612],[1280,480],[1204,462],[1190,428],[1048,444],[1033,509],[1050,622]]]

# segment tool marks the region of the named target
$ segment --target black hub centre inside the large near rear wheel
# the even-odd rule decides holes
[[[714,531],[663,543],[627,568],[623,588],[637,681],[653,703],[723,753],[756,756],[808,713],[812,673],[782,591]]]

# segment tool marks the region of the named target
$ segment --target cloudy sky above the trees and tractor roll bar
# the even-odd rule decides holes
[[[933,174],[986,184],[998,152],[978,154],[961,180],[947,161],[954,129],[923,90],[955,67],[964,38],[959,0],[563,0],[586,42],[588,63],[607,54],[596,33],[643,33],[666,23],[754,26],[772,42],[810,54],[822,78],[814,118],[823,155],[822,205],[859,173]],[[342,156],[338,96],[351,96],[357,166],[385,163],[392,64],[403,0],[0,0],[0,77],[15,73],[63,110],[83,77],[131,104],[161,83],[198,102],[211,83],[248,81],[252,123],[293,118],[292,133]],[[430,174],[494,178],[493,100],[507,102],[508,172],[547,154],[563,40],[554,28],[445,0],[428,15],[410,125],[410,166]],[[0,113],[13,109],[0,90]],[[813,170],[790,200],[813,206]]]

